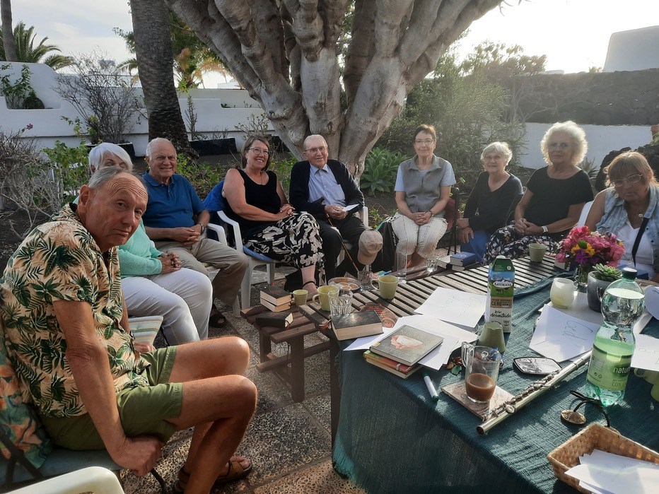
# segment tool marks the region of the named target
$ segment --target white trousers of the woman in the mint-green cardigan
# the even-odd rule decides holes
[[[192,269],[122,278],[131,317],[163,316],[163,334],[170,345],[208,338],[213,303],[209,277]]]

